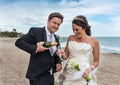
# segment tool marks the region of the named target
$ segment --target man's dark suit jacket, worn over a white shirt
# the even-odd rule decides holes
[[[31,28],[25,36],[19,38],[15,43],[17,47],[30,53],[30,62],[26,74],[28,79],[35,79],[37,76],[48,73],[51,67],[54,68],[53,71],[55,72],[56,64],[61,63],[60,58],[55,54],[51,56],[49,50],[35,53],[36,44],[40,41],[47,41],[45,27]],[[56,41],[58,42],[57,38]]]

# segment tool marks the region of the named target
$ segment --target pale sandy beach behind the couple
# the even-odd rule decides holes
[[[0,37],[0,85],[29,85],[29,54],[15,47],[16,39]],[[120,85],[120,54],[101,53],[96,75],[99,85]]]

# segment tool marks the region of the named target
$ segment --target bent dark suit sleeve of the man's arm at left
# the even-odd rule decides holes
[[[24,35],[23,37],[16,40],[15,45],[18,48],[20,48],[30,54],[35,54],[37,45],[35,42],[34,29],[31,28],[30,31],[26,35]]]

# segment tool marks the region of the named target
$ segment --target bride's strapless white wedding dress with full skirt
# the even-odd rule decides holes
[[[92,80],[87,82],[86,79],[82,76],[80,78],[75,79],[73,75],[77,72],[77,70],[70,68],[68,65],[71,59],[75,59],[79,66],[84,66],[84,69],[90,67],[91,62],[93,60],[92,46],[87,43],[69,41],[68,49],[69,60],[67,61],[67,64],[63,69],[62,74],[60,74],[60,76],[58,77],[58,81],[55,85],[98,85],[96,83],[95,76],[96,69],[94,69],[89,75]],[[81,70],[83,70],[83,68]]]

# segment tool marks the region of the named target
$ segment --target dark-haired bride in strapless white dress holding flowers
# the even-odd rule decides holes
[[[85,16],[73,19],[72,30],[74,35],[68,37],[65,51],[57,51],[57,55],[62,54],[61,58],[68,61],[55,85],[98,85],[95,73],[99,64],[99,42],[90,36],[91,30]],[[80,71],[69,65],[73,59]]]

